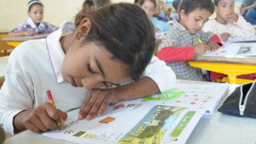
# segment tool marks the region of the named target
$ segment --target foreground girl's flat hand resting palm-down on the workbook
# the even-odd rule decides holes
[[[97,116],[100,117],[110,103],[117,104],[119,99],[117,99],[118,97],[115,95],[114,89],[89,90],[79,111],[78,119],[86,118],[87,120],[91,120],[97,112]]]

